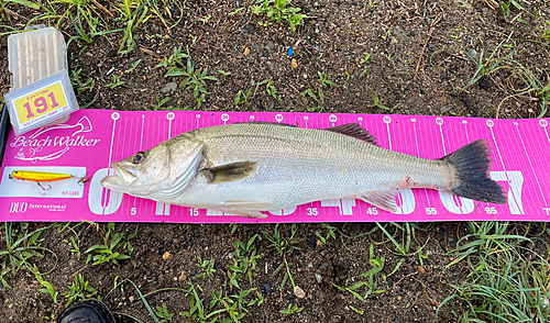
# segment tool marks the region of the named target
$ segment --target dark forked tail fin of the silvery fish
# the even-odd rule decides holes
[[[476,201],[506,203],[502,187],[488,177],[491,146],[486,140],[470,143],[441,160],[457,169],[459,183],[450,188],[452,193]]]

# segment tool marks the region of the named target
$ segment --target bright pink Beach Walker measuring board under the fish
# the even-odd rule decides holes
[[[398,213],[382,211],[360,200],[327,200],[272,211],[266,220],[234,216],[158,203],[100,186],[111,162],[179,133],[212,125],[268,121],[301,127],[330,127],[358,122],[382,147],[440,158],[479,138],[493,148],[491,177],[501,182],[507,204],[490,204],[425,189],[399,191]],[[186,223],[350,222],[550,220],[550,136],[548,120],[487,120],[421,115],[366,115],[245,112],[123,112],[80,110],[68,123],[8,140],[0,182],[0,221],[125,221]],[[51,182],[46,191],[35,182],[10,179],[13,170],[91,175]],[[46,186],[46,185],[44,185]],[[47,187],[46,187],[47,188]]]

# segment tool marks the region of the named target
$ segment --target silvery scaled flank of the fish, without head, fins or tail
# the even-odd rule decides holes
[[[212,186],[209,193],[221,201],[242,199],[246,194],[235,192],[234,186],[239,185],[241,190],[246,186],[246,193],[254,199],[274,200],[270,210],[386,190],[405,181],[407,176],[418,183],[441,182],[442,186],[449,172],[437,166],[442,162],[403,155],[318,130],[237,124],[200,129],[189,135],[206,143],[205,158],[213,165],[258,163],[249,178],[239,183]],[[197,201],[206,186],[202,182],[195,189],[190,187],[184,201]]]

